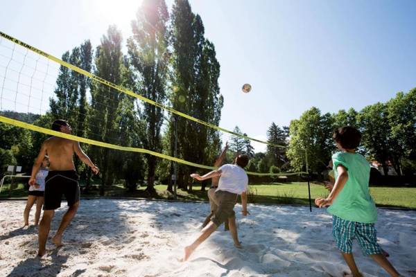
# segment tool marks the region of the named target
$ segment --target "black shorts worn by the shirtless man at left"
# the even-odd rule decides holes
[[[68,206],[73,206],[80,199],[78,175],[75,170],[51,170],[45,179],[44,210],[55,210],[60,207],[62,195],[65,195]]]

